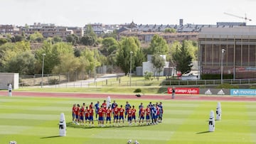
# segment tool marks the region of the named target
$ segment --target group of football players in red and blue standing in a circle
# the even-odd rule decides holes
[[[97,101],[96,104],[91,102],[89,106],[86,106],[85,103],[82,106],[73,104],[72,116],[73,123],[86,126],[95,126],[93,119],[95,116],[98,126],[102,127],[107,123],[109,123],[109,126],[124,126],[124,121],[127,121],[129,126],[132,126],[133,123],[137,126],[138,124],[157,124],[163,121],[164,109],[161,102],[156,102],[156,104],[149,102],[145,107],[141,103],[139,105],[138,119],[136,118],[136,112],[137,109],[135,109],[134,105],[129,104],[129,101],[126,101],[124,106],[119,106],[116,101],[113,101],[112,104],[107,104],[104,100],[102,104]]]

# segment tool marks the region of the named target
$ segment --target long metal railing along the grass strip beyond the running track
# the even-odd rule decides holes
[[[76,80],[73,82],[68,82],[67,80],[63,81],[50,81],[49,77],[44,77],[43,87],[129,87],[129,80],[110,80],[104,79],[102,81],[95,81],[95,79],[91,80]],[[31,78],[30,84],[26,82],[21,82],[20,87],[39,87],[41,86],[41,81],[37,82],[36,78]],[[176,86],[176,87],[199,87],[204,85],[219,85],[221,84],[220,79],[198,79],[198,80],[138,80],[131,81],[132,87],[149,87],[149,86],[159,86],[159,87],[168,87],[168,86]],[[256,79],[223,79],[223,84],[233,84],[233,85],[242,85],[242,84],[256,84]]]

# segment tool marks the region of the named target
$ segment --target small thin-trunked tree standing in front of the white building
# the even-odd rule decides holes
[[[155,54],[152,56],[151,62],[156,70],[156,78],[159,80],[160,72],[164,69],[165,60],[160,55]]]

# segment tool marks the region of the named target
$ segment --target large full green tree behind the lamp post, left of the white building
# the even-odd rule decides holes
[[[120,41],[119,48],[117,50],[116,60],[117,60],[117,66],[119,66],[127,75],[129,72],[130,67],[130,59],[132,53],[132,69],[134,67],[134,55],[137,55],[137,51],[139,50],[139,40],[135,37],[127,37],[123,38]]]

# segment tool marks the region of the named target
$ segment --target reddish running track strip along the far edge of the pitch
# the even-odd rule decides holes
[[[65,92],[13,92],[13,96],[44,96],[44,97],[75,97],[75,98],[99,98],[105,99],[111,96],[112,99],[159,99],[159,100],[180,100],[180,101],[256,101],[255,97],[250,96],[203,96],[203,95],[181,95],[177,94],[175,99],[171,95],[142,95],[135,94],[84,94],[84,93],[65,93]],[[7,91],[1,91],[0,96],[8,96]]]

